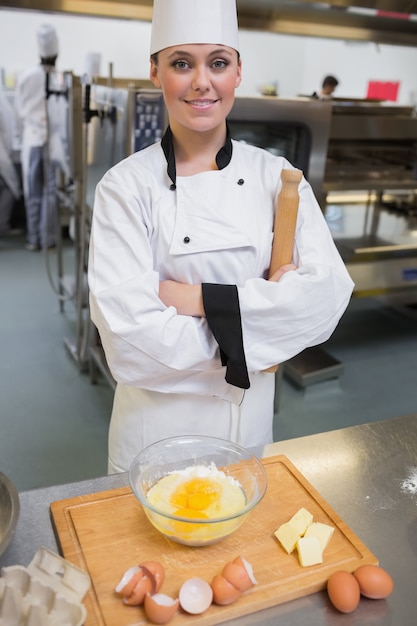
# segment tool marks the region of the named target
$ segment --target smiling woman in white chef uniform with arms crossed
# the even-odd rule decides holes
[[[294,265],[267,280],[280,174],[291,164],[230,139],[241,81],[235,0],[155,0],[151,80],[169,128],[99,183],[91,315],[117,381],[109,472],[156,440],[272,441],[275,377],[324,342],[352,292],[310,185]]]

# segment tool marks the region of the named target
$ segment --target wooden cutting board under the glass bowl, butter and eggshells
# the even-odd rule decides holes
[[[163,537],[146,518],[129,487],[79,496],[51,504],[57,541],[66,559],[87,571],[92,585],[85,597],[85,626],[148,625],[141,607],[127,607],[114,588],[123,573],[144,561],[165,568],[161,593],[178,597],[181,584],[192,576],[208,582],[224,565],[243,556],[253,567],[258,584],[229,606],[212,605],[202,615],[179,612],[172,626],[210,626],[282,604],[325,589],[330,574],[354,571],[376,557],[331,509],[314,487],[285,457],[262,460],[268,489],[244,524],[220,543],[203,548],[176,544]],[[343,489],[343,485],[341,485]],[[274,531],[301,507],[314,521],[335,528],[324,563],[301,567],[296,553],[286,554]]]

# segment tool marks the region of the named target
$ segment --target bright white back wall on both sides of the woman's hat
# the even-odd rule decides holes
[[[6,10],[0,6],[0,68],[13,86],[16,75],[38,60],[36,29],[49,22],[60,41],[57,67],[82,75],[89,52],[101,54],[101,75],[148,78],[150,23],[112,18]],[[364,98],[368,81],[399,81],[398,102],[417,103],[417,48],[241,30],[243,80],[239,96],[266,85],[281,96],[311,94],[335,74],[338,97]]]

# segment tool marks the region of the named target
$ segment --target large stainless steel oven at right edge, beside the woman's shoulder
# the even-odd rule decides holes
[[[414,108],[333,102],[323,180],[326,217],[355,295],[416,300],[416,189]]]

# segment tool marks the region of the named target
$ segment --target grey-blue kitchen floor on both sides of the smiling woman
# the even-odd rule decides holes
[[[75,309],[60,312],[56,255],[0,240],[0,471],[19,490],[106,473],[112,391],[92,385],[64,347]],[[297,389],[284,378],[275,440],[417,412],[417,314],[352,300],[325,349],[339,379]]]

